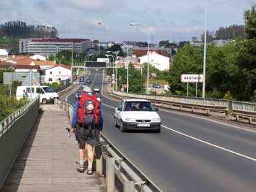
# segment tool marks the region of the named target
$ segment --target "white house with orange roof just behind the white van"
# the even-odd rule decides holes
[[[69,66],[59,65],[48,69],[42,69],[41,75],[45,77],[45,82],[59,82],[71,78],[71,69]]]

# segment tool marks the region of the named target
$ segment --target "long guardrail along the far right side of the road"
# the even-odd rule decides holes
[[[189,110],[207,115],[219,115],[222,118],[243,123],[256,124],[256,104],[225,99],[201,99],[182,96],[156,96],[124,93],[108,89],[110,96],[123,98],[148,99],[154,105],[173,110]]]

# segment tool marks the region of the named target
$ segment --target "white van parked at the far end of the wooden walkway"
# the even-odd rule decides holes
[[[26,93],[27,98],[30,97],[30,86],[18,86],[16,91],[16,98],[20,100],[23,98],[23,93]],[[54,99],[59,98],[59,95],[48,86],[31,86],[31,98],[34,99],[40,96],[40,103],[47,104],[54,102]]]

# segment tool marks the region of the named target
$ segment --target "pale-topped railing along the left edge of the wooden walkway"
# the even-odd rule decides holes
[[[0,188],[39,114],[39,96],[0,122]]]

